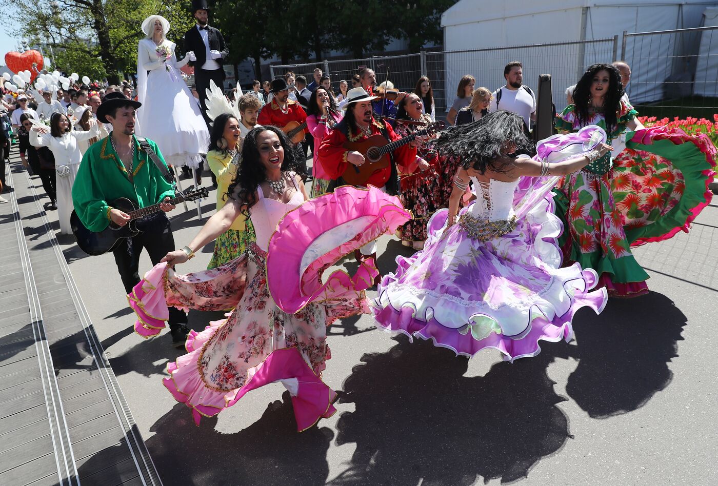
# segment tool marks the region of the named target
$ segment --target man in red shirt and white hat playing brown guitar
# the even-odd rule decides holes
[[[376,96],[370,96],[363,88],[353,88],[347,93],[348,102],[342,107],[347,113],[334,129],[327,134],[317,153],[322,161],[322,167],[337,184],[342,185],[342,174],[351,166],[360,167],[365,163],[365,156],[358,151],[345,149],[347,141],[361,141],[371,136],[381,134],[388,141],[400,139],[388,123],[376,121],[372,115],[372,101]],[[371,184],[391,195],[398,195],[399,179],[396,165],[409,167],[416,161],[416,146],[420,139],[398,147],[391,154],[391,163],[388,167],[378,169],[370,175],[364,186]],[[369,243],[354,253],[357,261],[374,258],[376,261],[376,243]],[[378,279],[378,277],[377,277]]]

